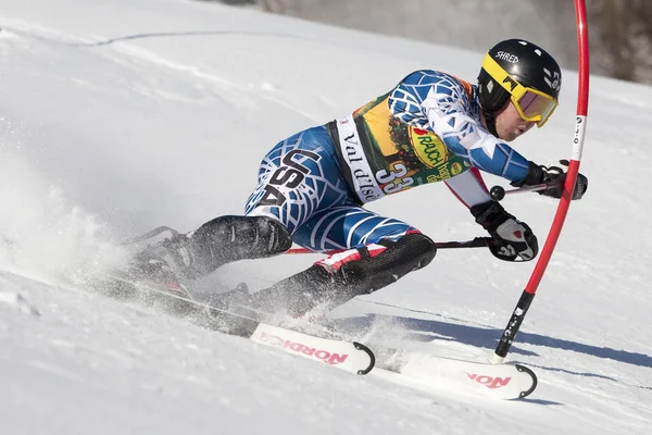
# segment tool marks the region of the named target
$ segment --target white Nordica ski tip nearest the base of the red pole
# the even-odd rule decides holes
[[[522,364],[490,364],[418,352],[384,349],[378,369],[435,387],[498,399],[523,399],[537,388],[537,375]]]

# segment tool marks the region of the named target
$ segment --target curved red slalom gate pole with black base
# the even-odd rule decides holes
[[[537,265],[530,276],[512,318],[505,327],[502,337],[496,348],[492,356],[491,362],[500,364],[504,362],[510,347],[514,341],[518,328],[523,323],[525,314],[527,313],[539,283],[543,277],[546,268],[552,257],[554,247],[560,238],[566,214],[568,213],[568,207],[570,206],[570,198],[573,197],[573,190],[575,188],[575,181],[579,172],[579,161],[581,159],[581,151],[585,140],[585,132],[587,126],[587,112],[589,105],[589,36],[587,28],[587,8],[585,0],[575,0],[575,20],[577,26],[577,48],[579,59],[579,74],[578,74],[578,95],[577,95],[577,115],[575,122],[575,135],[573,137],[573,154],[568,164],[568,172],[566,175],[566,182],[564,183],[564,191],[557,206],[557,211],[552,222],[550,233],[546,239],[546,245],[541,250]]]

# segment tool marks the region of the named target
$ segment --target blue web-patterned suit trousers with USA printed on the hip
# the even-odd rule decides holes
[[[360,247],[415,231],[356,203],[324,126],[293,135],[265,156],[246,214],[279,220],[294,243],[315,251]]]

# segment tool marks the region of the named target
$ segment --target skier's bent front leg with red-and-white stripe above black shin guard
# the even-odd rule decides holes
[[[328,219],[325,217],[328,214]],[[305,229],[305,232],[303,232]],[[328,210],[296,233],[314,250],[358,246],[253,295],[265,311],[301,315],[315,306],[333,309],[376,291],[432,261],[435,244],[410,225],[356,207]]]

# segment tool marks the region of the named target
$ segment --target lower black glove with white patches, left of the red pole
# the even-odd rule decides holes
[[[476,222],[489,232],[493,240],[489,250],[503,261],[529,261],[537,257],[539,244],[530,227],[518,221],[496,201],[471,208]]]

